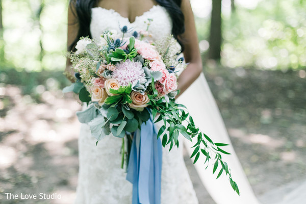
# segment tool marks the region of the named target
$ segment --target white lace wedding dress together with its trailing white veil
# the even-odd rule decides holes
[[[161,6],[154,6],[143,15],[136,17],[134,22],[130,22],[128,18],[122,17],[114,10],[104,8],[92,9],[92,20],[90,31],[94,39],[98,39],[100,34],[105,30],[117,30],[120,32],[120,27],[126,25],[128,28],[133,28],[135,31],[146,30],[147,19],[153,19],[149,27],[149,33],[152,35],[152,40],[158,40],[171,34],[172,23],[167,11]],[[131,33],[127,33],[129,37]],[[193,89],[196,86],[196,92]],[[217,142],[230,143],[223,125],[223,121],[216,108],[213,97],[206,84],[203,75],[197,80],[195,86],[188,89],[186,94],[181,96],[181,100],[192,98],[196,104],[189,103],[190,100],[184,100],[186,105],[194,106],[196,109],[190,109],[195,122],[203,131],[212,136]],[[191,90],[192,89],[192,90]],[[203,90],[201,90],[203,89]],[[201,92],[202,91],[202,92]],[[196,99],[198,92],[201,92],[199,99]],[[196,97],[196,98],[195,98]],[[202,105],[203,103],[208,103]],[[84,107],[86,108],[86,107]],[[204,118],[197,117],[197,111],[200,110]],[[206,112],[206,111],[209,112]],[[201,126],[201,120],[207,122],[205,115],[208,114],[212,118],[210,127]],[[215,118],[215,120],[214,120]],[[161,126],[156,124],[157,129]],[[222,136],[222,137],[221,137]],[[215,137],[215,138],[214,138]],[[121,165],[121,139],[112,135],[105,136],[95,146],[96,139],[90,135],[89,126],[81,125],[79,138],[79,180],[77,187],[77,198],[75,203],[80,204],[130,204],[132,203],[132,184],[125,177],[124,169]],[[196,204],[198,203],[195,191],[193,189],[188,171],[183,160],[183,137],[180,137],[180,147],[173,148],[169,152],[169,147],[163,148],[162,162],[162,183],[161,183],[161,203],[162,204]],[[234,150],[231,149],[234,153]],[[234,159],[233,159],[234,158]],[[228,164],[232,167],[232,174],[240,187],[242,196],[247,196],[249,199],[241,199],[235,195],[231,189],[228,180],[224,177],[225,182],[222,183],[222,178],[215,181],[215,176],[212,176],[211,170],[205,170],[205,166],[201,165],[201,161],[197,162],[196,169],[202,179],[203,184],[207,186],[208,191],[213,199],[218,203],[258,203],[254,197],[246,177],[240,167],[236,155],[228,158]],[[233,161],[233,162],[230,162]],[[236,169],[238,169],[236,171]],[[240,179],[239,179],[240,178]],[[221,185],[220,186],[220,181]],[[224,186],[224,187],[223,187]],[[223,190],[221,190],[223,189]],[[246,193],[246,195],[243,195]],[[222,196],[221,196],[222,195]],[[224,197],[220,198],[220,197]],[[228,197],[228,198],[227,198]],[[223,201],[223,200],[226,200]],[[144,203],[146,204],[146,203]],[[153,204],[153,203],[151,203]]]

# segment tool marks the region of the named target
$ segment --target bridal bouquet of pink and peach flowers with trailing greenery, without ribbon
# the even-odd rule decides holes
[[[229,154],[221,148],[227,144],[214,143],[195,126],[186,107],[175,103],[178,73],[186,67],[184,59],[178,57],[181,50],[175,39],[168,36],[149,42],[141,40],[142,34],[137,32],[125,38],[126,26],[121,31],[121,35],[105,31],[99,40],[81,38],[75,46],[77,51],[70,53],[77,81],[63,92],[78,93],[80,100],[87,103],[87,109],[77,113],[80,122],[90,126],[97,143],[110,133],[122,138],[123,168],[124,161],[129,163],[132,133],[156,118],[154,122],[163,122],[156,134],[162,146],[170,145],[170,150],[178,147],[179,135],[190,141],[195,138],[191,155],[194,163],[200,154],[206,162],[214,160],[213,173],[218,165],[220,169],[217,179],[225,172],[239,194],[221,157]]]

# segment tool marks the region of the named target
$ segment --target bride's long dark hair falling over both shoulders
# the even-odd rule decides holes
[[[160,6],[164,7],[169,13],[172,20],[172,35],[181,44],[182,50],[184,49],[180,35],[185,32],[184,14],[181,10],[182,0],[155,0]],[[79,32],[77,38],[69,46],[69,50],[73,50],[75,44],[81,37],[89,36],[90,22],[91,22],[91,9],[96,5],[97,0],[70,0],[70,7],[74,7],[74,15],[78,18]]]

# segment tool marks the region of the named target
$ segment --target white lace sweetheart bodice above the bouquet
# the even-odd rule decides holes
[[[106,30],[117,30],[126,25],[133,31],[145,31],[147,28],[148,18],[152,19],[148,33],[152,35],[152,40],[158,40],[164,36],[170,35],[172,30],[172,21],[164,7],[159,5],[153,6],[150,10],[144,12],[141,16],[137,16],[134,22],[130,22],[129,18],[121,16],[113,9],[104,9],[95,7],[92,9],[92,18],[90,31],[93,39],[97,39]],[[127,33],[129,37],[133,32]]]

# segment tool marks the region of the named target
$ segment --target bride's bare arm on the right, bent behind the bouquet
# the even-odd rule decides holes
[[[185,33],[182,35],[183,43],[185,45],[184,57],[186,63],[189,64],[181,73],[178,80],[178,89],[181,90],[180,94],[182,94],[199,77],[202,71],[202,61],[195,30],[194,16],[189,0],[182,0],[181,9],[185,16]]]

